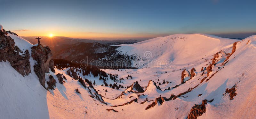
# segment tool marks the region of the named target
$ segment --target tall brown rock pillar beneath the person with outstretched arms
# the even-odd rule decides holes
[[[49,47],[43,47],[43,45],[33,46],[31,49],[31,56],[37,62],[34,65],[34,71],[40,84],[45,87],[45,72],[49,72],[52,52]]]

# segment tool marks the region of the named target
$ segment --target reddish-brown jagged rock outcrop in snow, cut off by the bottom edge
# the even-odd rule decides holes
[[[203,100],[201,105],[195,104],[188,113],[188,119],[196,119],[198,116],[203,115],[206,111],[205,104],[207,104],[207,100]]]

